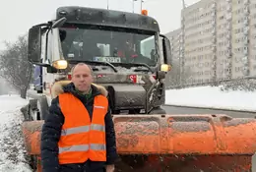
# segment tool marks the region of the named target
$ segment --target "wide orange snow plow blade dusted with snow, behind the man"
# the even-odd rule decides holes
[[[225,115],[114,115],[117,171],[251,171],[256,120]],[[22,125],[28,153],[39,155],[43,121]]]

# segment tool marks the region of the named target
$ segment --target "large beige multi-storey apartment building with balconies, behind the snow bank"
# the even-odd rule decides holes
[[[201,0],[182,10],[180,36],[184,84],[256,75],[256,1]]]

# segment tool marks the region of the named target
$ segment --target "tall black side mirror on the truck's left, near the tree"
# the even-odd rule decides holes
[[[41,28],[34,26],[29,30],[28,60],[33,64],[41,63]]]

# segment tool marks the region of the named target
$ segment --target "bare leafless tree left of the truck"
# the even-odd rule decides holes
[[[0,76],[26,98],[32,78],[32,64],[27,60],[28,35],[19,36],[15,43],[5,42],[5,45],[6,49],[0,54]]]

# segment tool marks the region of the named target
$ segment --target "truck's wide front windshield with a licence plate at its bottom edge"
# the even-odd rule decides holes
[[[59,30],[67,60],[114,63],[144,63],[156,66],[156,38],[151,34],[75,26]]]

